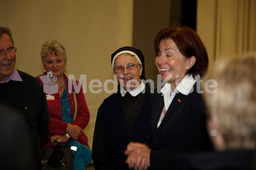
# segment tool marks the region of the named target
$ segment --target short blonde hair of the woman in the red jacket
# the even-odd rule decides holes
[[[47,53],[47,51],[54,51],[55,55],[63,55],[65,63],[67,62],[67,53],[66,53],[66,48],[61,45],[61,42],[58,40],[50,40],[44,42],[42,45],[42,50],[41,50],[41,59],[42,62],[44,63],[44,56]]]

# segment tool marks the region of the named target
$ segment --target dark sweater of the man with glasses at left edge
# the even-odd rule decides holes
[[[34,159],[32,163],[35,163],[35,170],[41,170],[40,144],[47,136],[49,128],[47,99],[44,88],[38,79],[22,71],[18,71],[18,73],[23,81],[10,80],[0,83],[0,102],[17,109],[26,120],[29,134],[32,136]]]

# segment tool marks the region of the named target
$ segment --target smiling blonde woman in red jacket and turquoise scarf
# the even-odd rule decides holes
[[[90,119],[89,109],[84,98],[84,93],[80,88],[76,94],[77,102],[73,93],[68,93],[69,80],[64,74],[67,65],[66,49],[61,42],[50,40],[44,42],[41,50],[41,59],[44,67],[44,74],[36,77],[42,85],[44,83],[40,79],[41,76],[52,72],[57,77],[58,92],[55,94],[47,94],[47,102],[49,106],[49,133],[47,136],[47,147],[54,147],[55,142],[61,145],[70,145],[78,147],[73,152],[74,170],[85,170],[85,166],[90,163],[91,150],[89,149],[88,139],[83,129],[88,125]],[[76,81],[78,84],[78,81]],[[72,84],[72,89],[74,85]],[[77,105],[77,115],[75,115],[75,105]]]

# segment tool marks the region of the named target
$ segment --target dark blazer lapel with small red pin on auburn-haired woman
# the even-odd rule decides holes
[[[161,122],[161,125],[164,122],[166,122],[170,117],[172,117],[173,114],[176,113],[176,111],[180,108],[180,106],[183,105],[183,103],[185,102],[185,99],[186,99],[186,95],[183,95],[181,93],[178,93],[175,95],[174,99],[172,100],[171,105],[169,106],[169,108],[166,112],[166,115],[163,118],[163,121]]]

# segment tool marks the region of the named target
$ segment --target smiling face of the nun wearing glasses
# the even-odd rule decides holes
[[[124,71],[122,73],[116,73],[117,75],[117,81],[120,85],[123,86],[125,91],[132,91],[136,89],[140,85],[140,76],[141,76],[141,70],[139,65],[134,71],[129,71],[126,67],[130,64],[137,64],[138,61],[135,57],[131,56],[125,56],[121,54],[119,57],[117,57],[114,61],[114,68],[118,66],[125,67]]]

